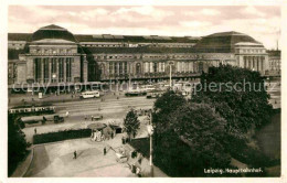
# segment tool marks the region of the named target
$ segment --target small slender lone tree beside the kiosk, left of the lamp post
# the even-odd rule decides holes
[[[124,127],[125,130],[127,131],[127,134],[129,137],[129,139],[131,139],[131,134],[134,136],[134,138],[136,137],[138,129],[139,129],[140,122],[138,120],[138,116],[135,112],[134,109],[131,109],[126,118],[124,119]]]

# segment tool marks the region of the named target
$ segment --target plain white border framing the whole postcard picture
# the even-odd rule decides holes
[[[285,112],[285,106],[286,106],[286,96],[287,94],[287,78],[286,78],[286,68],[287,68],[287,55],[286,55],[286,49],[287,49],[287,2],[284,0],[109,0],[109,1],[103,1],[103,0],[10,0],[3,1],[1,0],[1,7],[0,7],[0,61],[1,61],[1,67],[0,67],[0,116],[1,116],[1,131],[0,131],[0,183],[1,182],[11,182],[11,183],[18,183],[18,182],[24,182],[24,183],[31,183],[31,182],[43,182],[43,183],[50,183],[50,182],[252,182],[252,183],[270,183],[270,182],[286,182],[286,133],[285,129],[286,127],[286,119],[287,115]],[[283,107],[283,117],[281,117],[281,177],[278,179],[266,179],[266,177],[257,177],[257,179],[245,179],[245,177],[238,177],[238,179],[225,179],[225,177],[219,177],[219,179],[200,179],[200,177],[189,177],[189,179],[103,179],[103,177],[74,177],[74,179],[50,179],[50,177],[43,177],[43,179],[11,179],[7,177],[7,105],[8,105],[8,93],[7,93],[7,66],[8,66],[8,55],[7,55],[7,46],[8,46],[8,6],[11,4],[42,4],[42,6],[280,6],[281,7],[281,69],[283,69],[283,77],[281,77],[281,107]]]

